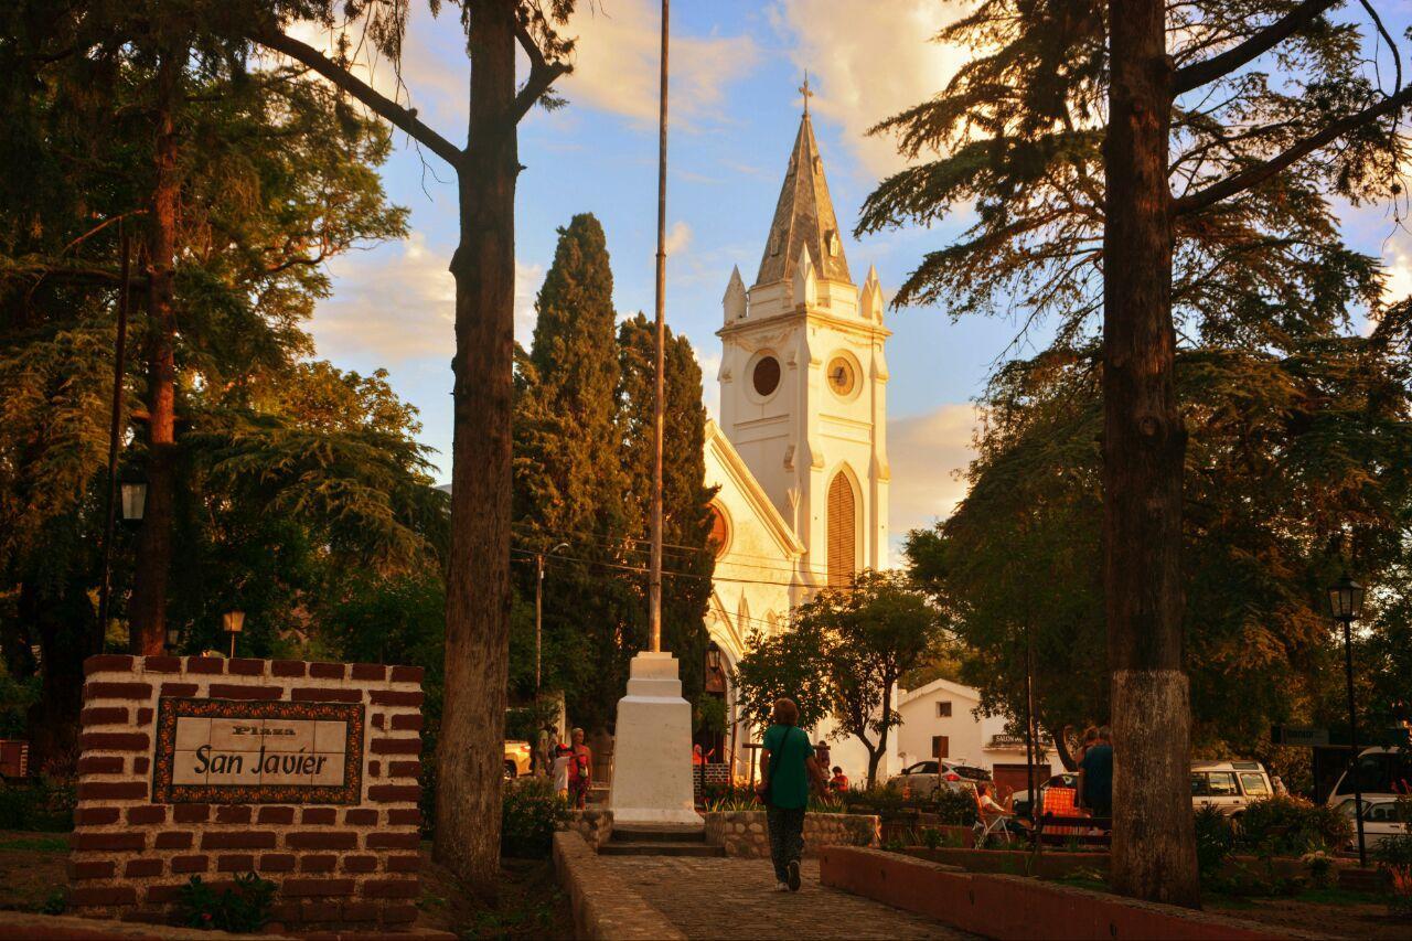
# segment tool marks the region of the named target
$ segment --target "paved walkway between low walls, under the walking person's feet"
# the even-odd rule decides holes
[[[771,892],[765,859],[600,856],[688,938],[970,938],[947,925],[819,884],[819,862],[803,863],[799,892]]]

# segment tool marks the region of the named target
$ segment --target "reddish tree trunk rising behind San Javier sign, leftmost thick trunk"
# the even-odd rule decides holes
[[[157,69],[157,144],[152,205],[147,219],[147,507],[137,535],[137,567],[128,602],[134,654],[161,654],[167,639],[176,459],[176,314],[172,284],[181,195],[174,109],[185,59],[185,51],[167,52]]]

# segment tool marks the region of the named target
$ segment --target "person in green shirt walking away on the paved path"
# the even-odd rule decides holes
[[[803,815],[810,780],[822,788],[823,769],[799,726],[799,706],[775,699],[771,726],[760,752],[760,784],[770,831],[770,859],[777,892],[799,892],[799,856],[803,853]]]

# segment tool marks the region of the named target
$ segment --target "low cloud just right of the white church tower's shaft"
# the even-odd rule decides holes
[[[899,544],[908,530],[945,520],[966,496],[967,483],[956,472],[976,456],[976,408],[969,404],[888,420],[888,528],[894,543]]]

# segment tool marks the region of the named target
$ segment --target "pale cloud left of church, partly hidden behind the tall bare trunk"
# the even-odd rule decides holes
[[[374,251],[329,264],[337,292],[321,301],[309,326],[321,356],[373,357],[380,366],[438,357],[456,348],[456,283],[450,249],[431,247],[414,232]],[[515,263],[515,338],[534,331],[534,295],[544,266]]]

